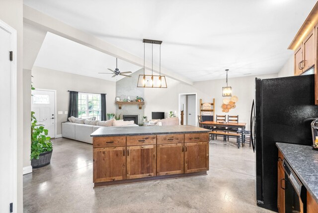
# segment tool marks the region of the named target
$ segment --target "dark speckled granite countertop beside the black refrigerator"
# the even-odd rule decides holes
[[[300,144],[276,143],[276,146],[318,203],[318,151]]]

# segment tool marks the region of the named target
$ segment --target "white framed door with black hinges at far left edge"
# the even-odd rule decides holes
[[[0,212],[9,213],[17,205],[16,30],[1,20],[0,75]]]

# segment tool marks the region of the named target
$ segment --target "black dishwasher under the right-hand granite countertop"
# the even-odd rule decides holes
[[[283,165],[285,169],[285,212],[306,213],[307,189],[285,160]]]

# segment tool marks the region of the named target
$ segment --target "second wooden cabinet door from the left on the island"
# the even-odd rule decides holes
[[[127,179],[156,176],[156,145],[127,147]]]

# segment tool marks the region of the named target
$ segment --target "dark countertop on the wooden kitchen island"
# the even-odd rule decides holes
[[[94,131],[91,137],[102,136],[123,136],[123,135],[145,135],[145,134],[182,134],[182,133],[204,133],[210,132],[209,129],[204,129],[192,125],[177,125],[177,126],[111,126],[100,127]]]

